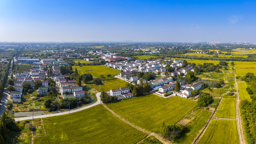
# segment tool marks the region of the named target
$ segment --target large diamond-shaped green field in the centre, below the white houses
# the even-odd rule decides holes
[[[107,106],[133,124],[152,132],[158,132],[162,122],[167,125],[176,124],[195,108],[197,103],[178,96],[161,98],[148,94],[107,104]]]

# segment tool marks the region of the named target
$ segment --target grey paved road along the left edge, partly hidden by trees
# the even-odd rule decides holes
[[[10,65],[8,78],[10,78],[11,73],[12,73],[11,68],[12,68],[12,62],[11,62],[11,65]],[[0,104],[0,115],[1,115],[1,116],[2,116],[3,112],[4,112],[5,109],[6,109],[6,102],[7,102],[8,98],[10,97],[10,94],[8,94],[8,90],[6,90],[6,88],[7,88],[8,86],[9,86],[8,84],[5,85],[4,94],[3,94],[3,96],[2,96],[2,100],[1,100],[1,104]]]

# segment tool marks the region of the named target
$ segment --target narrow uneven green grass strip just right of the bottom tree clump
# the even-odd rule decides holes
[[[199,131],[203,128],[206,124],[207,120],[211,116],[211,112],[208,110],[201,110],[197,116],[189,122],[184,131],[182,132],[181,136],[174,140],[176,144],[190,144],[193,142],[195,137],[199,134]]]

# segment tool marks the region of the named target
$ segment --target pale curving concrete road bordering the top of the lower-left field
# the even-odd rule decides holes
[[[43,114],[43,115],[39,115],[39,116],[34,116],[34,118],[46,118],[46,117],[50,117],[50,116],[60,116],[60,115],[64,115],[64,114],[69,114],[69,113],[73,113],[73,112],[79,112],[81,110],[85,110],[87,108],[91,108],[93,106],[96,106],[98,104],[100,104],[100,94],[101,92],[98,92],[96,94],[97,97],[97,102],[95,102],[94,104],[88,105],[88,106],[84,106],[82,108],[78,108],[75,110],[70,110],[67,112],[59,112],[59,113],[54,113],[54,114]],[[20,121],[20,120],[30,120],[32,119],[33,116],[26,116],[26,117],[21,117],[21,118],[14,118],[15,121]]]

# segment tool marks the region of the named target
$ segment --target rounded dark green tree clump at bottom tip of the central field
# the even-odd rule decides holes
[[[160,127],[162,136],[168,140],[174,140],[174,138],[178,138],[183,130],[184,126],[181,124],[170,124],[167,126],[163,122],[162,126]]]

